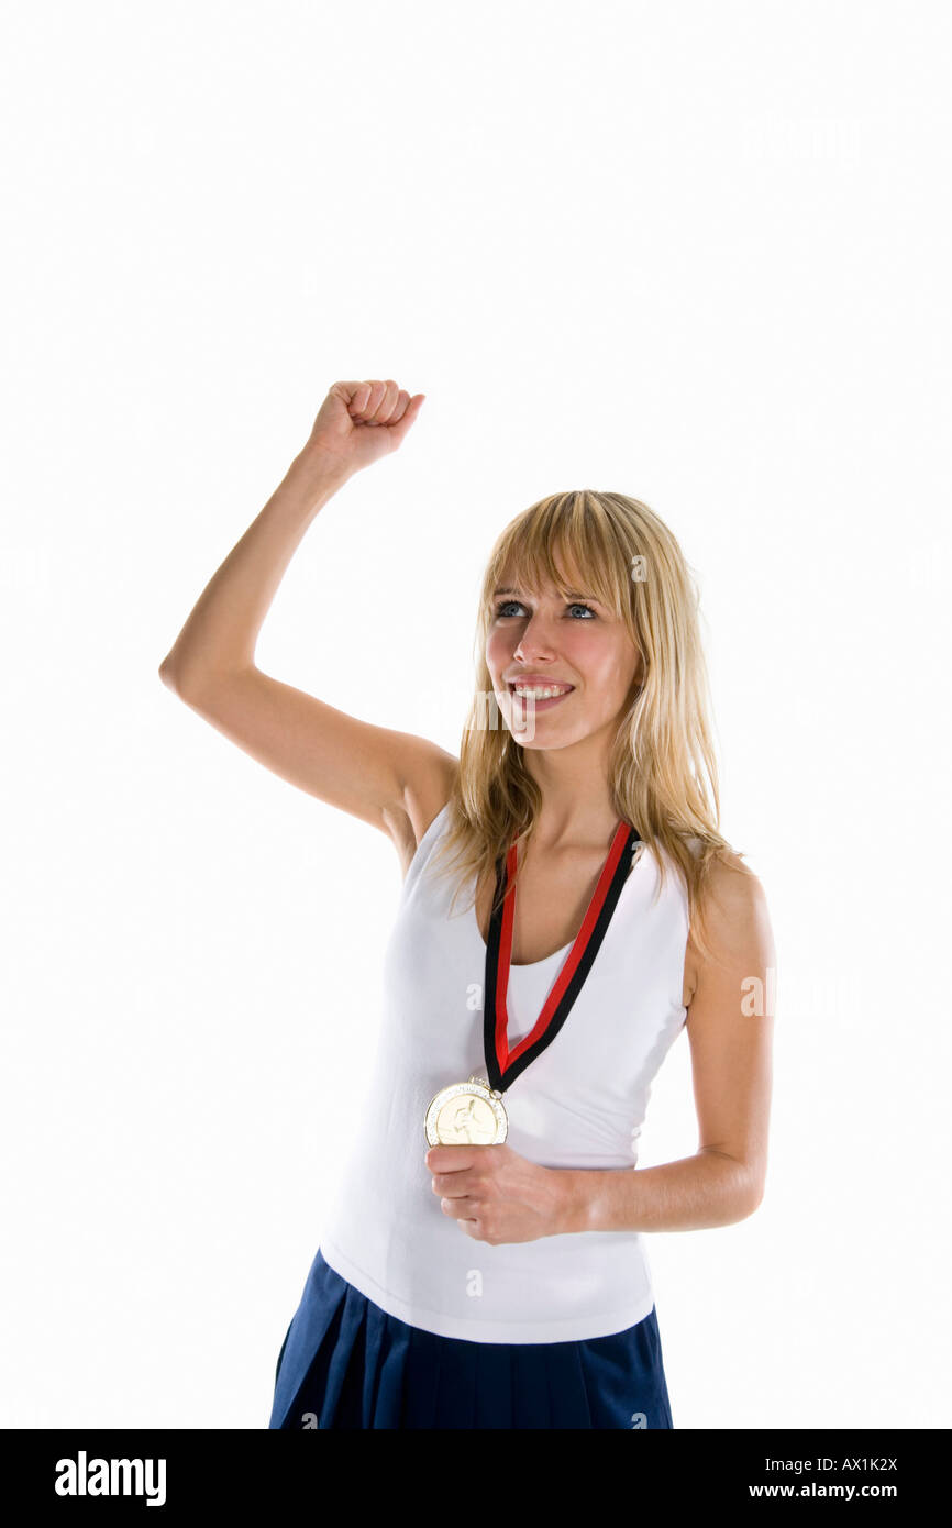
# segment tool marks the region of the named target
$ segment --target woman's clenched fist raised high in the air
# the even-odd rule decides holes
[[[387,382],[335,382],[321,403],[303,455],[321,457],[350,477],[396,451],[420,413],[425,393],[413,397]]]

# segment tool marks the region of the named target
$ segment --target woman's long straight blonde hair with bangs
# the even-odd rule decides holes
[[[547,581],[562,596],[590,590],[625,623],[642,654],[640,683],[633,683],[613,743],[608,784],[617,816],[637,830],[646,850],[657,854],[660,848],[674,862],[688,894],[692,938],[709,955],[703,929],[711,865],[735,851],[718,831],[700,596],[668,526],[625,494],[550,494],[516,515],[489,555],[477,620],[477,689],[448,802],[446,836],[432,859],[443,872],[457,874],[452,906],[471,880],[475,905],[477,886],[484,876],[495,877],[497,860],[510,843],[529,842],[542,804],[521,744],[504,723],[487,726],[486,717],[486,701],[497,704],[486,666],[494,590],[515,570],[520,584],[532,590]],[[657,857],[660,894],[666,866],[663,854]],[[733,868],[752,874],[740,859]]]

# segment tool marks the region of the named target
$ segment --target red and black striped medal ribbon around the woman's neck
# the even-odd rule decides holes
[[[489,920],[489,940],[486,943],[486,981],[483,1002],[483,1051],[489,1074],[489,1086],[503,1093],[510,1082],[529,1067],[536,1056],[552,1045],[568,1012],[585,984],[591,964],[605,932],[611,921],[611,914],[622,894],[622,886],[628,879],[633,865],[634,845],[640,842],[640,834],[627,824],[619,822],[608,859],[602,866],[599,883],[594,888],[588,911],[582,926],[576,934],[562,969],[546,998],[542,1012],[535,1025],[513,1050],[509,1050],[509,1012],[506,995],[509,990],[509,967],[512,961],[512,931],[515,923],[515,891],[501,905],[495,906]],[[506,885],[515,876],[516,847],[509,850],[504,860]],[[503,860],[497,862],[497,895],[503,886]]]

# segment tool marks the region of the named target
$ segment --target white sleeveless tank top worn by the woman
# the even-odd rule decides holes
[[[325,1261],[390,1316],[442,1337],[549,1343],[605,1337],[651,1313],[637,1232],[570,1232],[492,1245],[445,1215],[423,1163],[440,1088],[486,1077],[486,944],[466,891],[429,859],[437,813],[411,860],[384,955],[384,1018],[358,1137],[321,1238]],[[652,906],[642,848],[555,1039],[506,1086],[506,1144],[544,1167],[633,1169],[651,1083],[686,1019],[688,903],[674,865]],[[469,892],[471,894],[471,892]],[[518,897],[518,886],[516,886]],[[527,1034],[572,944],[509,972],[509,1041]]]

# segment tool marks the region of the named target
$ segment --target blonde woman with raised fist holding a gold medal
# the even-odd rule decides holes
[[[552,495],[507,526],[458,759],[254,662],[307,526],[422,402],[393,380],[330,388],[160,668],[240,747],[388,833],[403,869],[374,1128],[269,1426],[672,1427],[642,1233],[727,1225],[763,1198],[773,967],[763,888],[717,831],[677,541],[617,494]],[[682,1027],[700,1144],[636,1172]]]

